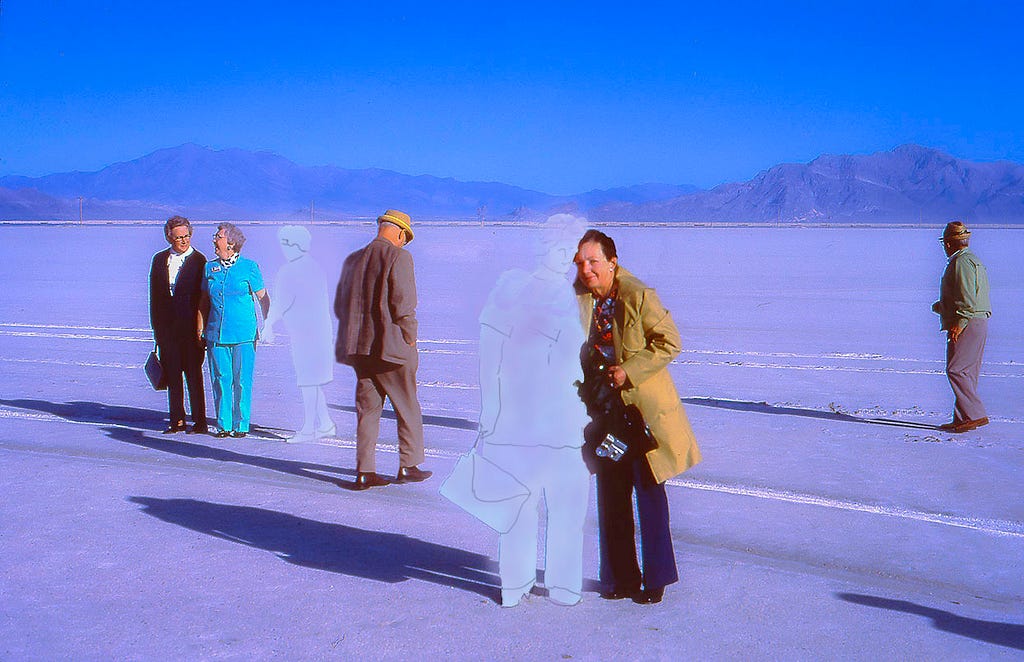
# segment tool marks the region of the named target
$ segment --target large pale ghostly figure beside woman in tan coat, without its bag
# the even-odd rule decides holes
[[[590,473],[580,449],[590,418],[575,386],[586,335],[567,275],[585,230],[570,214],[548,218],[532,270],[502,274],[479,318],[479,452],[529,490],[499,538],[503,607],[517,605],[537,581],[542,495],[548,596],[560,605],[582,597]]]

